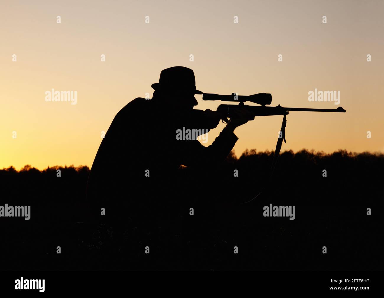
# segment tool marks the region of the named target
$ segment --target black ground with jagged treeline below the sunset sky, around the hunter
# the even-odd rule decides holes
[[[31,206],[30,220],[0,218],[1,268],[383,270],[384,156],[283,152],[268,186],[263,173],[272,157],[251,151],[213,171],[179,170],[167,186],[184,192],[172,198],[174,189],[158,190],[148,179],[141,187],[152,192],[140,204],[127,195],[125,204],[117,202],[117,215],[108,217],[107,208],[96,220],[85,199],[87,167],[60,167],[61,177],[55,167],[0,170],[0,205]],[[263,185],[260,196],[240,204]],[[269,204],[295,205],[296,219],[263,217]]]

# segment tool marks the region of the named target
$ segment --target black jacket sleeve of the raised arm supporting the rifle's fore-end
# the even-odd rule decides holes
[[[225,160],[235,146],[238,137],[226,128],[208,147],[197,140],[179,140],[180,161],[184,166],[201,167]]]

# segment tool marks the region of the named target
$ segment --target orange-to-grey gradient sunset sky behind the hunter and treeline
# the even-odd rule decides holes
[[[383,152],[383,12],[383,1],[2,0],[0,168],[91,167],[119,109],[152,96],[160,71],[177,65],[203,92],[266,92],[274,106],[337,108],[309,102],[308,91],[340,91],[347,113],[291,112],[282,150]],[[77,104],[46,102],[52,88],[77,91]],[[196,98],[197,109],[219,104]],[[237,156],[274,150],[281,119],[238,127]]]

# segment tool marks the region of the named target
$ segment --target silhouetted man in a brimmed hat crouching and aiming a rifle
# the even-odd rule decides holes
[[[220,121],[215,111],[193,109],[197,105],[194,95],[202,94],[196,90],[194,72],[182,66],[167,68],[152,88],[152,99],[136,98],[116,114],[101,142],[87,185],[88,199],[100,203],[99,207],[146,202],[154,196],[174,198],[180,191],[180,165],[214,167],[238,140],[234,129],[254,119],[253,114],[239,110],[238,117],[205,147],[196,135],[192,140],[177,137],[177,131],[209,131]],[[190,190],[196,186],[191,185]]]

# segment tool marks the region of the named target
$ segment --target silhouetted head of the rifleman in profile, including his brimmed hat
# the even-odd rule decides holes
[[[161,98],[164,104],[172,104],[177,109],[193,109],[197,105],[193,70],[183,66],[174,66],[162,70],[159,83],[152,84],[154,98]]]

